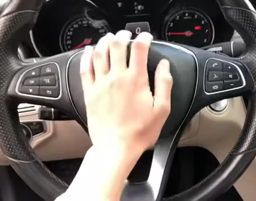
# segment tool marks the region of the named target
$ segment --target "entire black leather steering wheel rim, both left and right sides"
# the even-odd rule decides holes
[[[19,101],[8,95],[16,73],[28,65],[16,56],[18,42],[33,26],[43,3],[44,0],[13,0],[0,16],[0,146],[20,177],[41,197],[52,200],[65,192],[68,185],[52,174],[33,152],[20,128],[16,110]],[[238,60],[247,66],[255,84],[256,12],[249,0],[218,0],[218,3],[226,20],[245,41],[247,50]],[[251,91],[248,97],[243,132],[225,161],[197,185],[165,200],[211,200],[230,188],[243,174],[256,155],[256,92]]]

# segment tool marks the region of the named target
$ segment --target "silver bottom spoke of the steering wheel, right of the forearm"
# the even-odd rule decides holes
[[[150,173],[143,183],[126,182],[121,201],[156,201],[163,197],[170,167],[181,136],[178,130],[155,144]],[[136,167],[135,167],[136,168]]]

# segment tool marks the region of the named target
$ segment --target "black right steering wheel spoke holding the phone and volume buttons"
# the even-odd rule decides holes
[[[254,90],[252,74],[243,60],[201,49],[190,50],[195,53],[199,63],[192,115],[214,102],[245,95]]]

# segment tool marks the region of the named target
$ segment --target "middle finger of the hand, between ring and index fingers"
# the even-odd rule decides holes
[[[130,42],[132,33],[122,30],[117,32],[110,41],[110,73],[117,73],[127,68],[127,45]]]

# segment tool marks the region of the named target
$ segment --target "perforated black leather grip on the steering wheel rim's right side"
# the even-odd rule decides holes
[[[241,2],[240,2],[241,4]],[[240,33],[246,44],[246,52],[240,60],[246,64],[256,82],[256,12],[249,10],[250,6],[230,7],[223,5],[222,11],[228,22]],[[256,95],[250,97],[247,121],[232,153],[250,152],[256,149]]]

